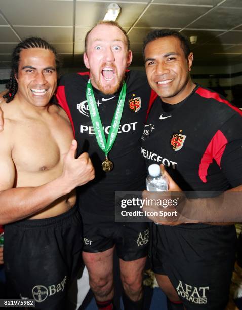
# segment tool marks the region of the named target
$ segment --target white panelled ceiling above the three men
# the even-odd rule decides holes
[[[0,67],[9,67],[15,45],[29,36],[52,43],[64,66],[83,66],[86,32],[101,20],[111,0],[0,0]],[[242,0],[116,1],[117,19],[128,31],[133,65],[143,65],[144,36],[155,28],[173,28],[188,37],[195,64],[242,63]]]

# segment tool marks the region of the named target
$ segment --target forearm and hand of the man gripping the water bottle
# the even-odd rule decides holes
[[[174,182],[167,171],[165,174],[169,181],[169,192],[144,191],[143,198],[164,200],[177,199],[179,203],[175,208],[163,209],[158,204],[145,206],[150,212],[177,211],[177,216],[166,217],[151,216],[152,221],[162,225],[179,225],[187,223],[206,223],[211,225],[231,225],[242,221],[242,185],[236,186],[223,193],[215,193],[216,197],[189,199],[180,187]]]

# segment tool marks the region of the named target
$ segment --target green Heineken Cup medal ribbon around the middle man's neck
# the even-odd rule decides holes
[[[98,112],[98,108],[97,108],[96,100],[94,97],[90,78],[87,84],[86,97],[87,97],[87,102],[88,102],[92,124],[94,127],[95,136],[96,136],[98,145],[101,148],[101,150],[105,153],[106,160],[107,160],[108,153],[111,150],[113,143],[117,137],[119,124],[122,118],[123,108],[125,104],[125,97],[126,97],[126,83],[125,81],[123,82],[123,86],[122,86],[122,89],[119,95],[117,107],[116,107],[116,110],[112,118],[112,123],[111,123],[111,127],[109,130],[107,141],[106,141],[103,127],[102,127],[102,122],[101,122],[100,115]]]

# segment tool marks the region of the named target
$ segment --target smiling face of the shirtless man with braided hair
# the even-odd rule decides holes
[[[15,78],[19,101],[36,107],[47,106],[57,86],[54,53],[42,48],[22,50]]]

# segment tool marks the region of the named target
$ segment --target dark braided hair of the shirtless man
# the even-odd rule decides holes
[[[51,44],[49,44],[48,42],[39,37],[29,37],[26,40],[20,42],[12,53],[12,61],[11,61],[12,70],[10,73],[10,81],[9,84],[7,85],[9,91],[7,92],[7,94],[3,96],[4,98],[6,98],[6,103],[12,101],[18,91],[18,83],[17,80],[15,79],[15,75],[18,74],[18,66],[21,51],[25,49],[34,49],[34,48],[41,48],[53,52],[55,55],[56,70],[58,72],[60,68],[60,59],[57,55],[55,48]]]

